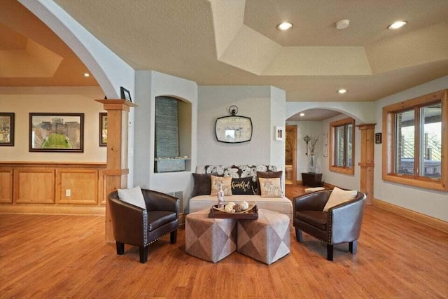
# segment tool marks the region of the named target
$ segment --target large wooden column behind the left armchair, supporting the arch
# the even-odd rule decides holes
[[[125,99],[95,99],[107,111],[107,165],[104,171],[104,201],[106,202],[106,242],[115,242],[108,195],[118,188],[127,188],[127,137],[130,107]]]

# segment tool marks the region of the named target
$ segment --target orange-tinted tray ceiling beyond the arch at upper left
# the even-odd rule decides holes
[[[41,20],[15,0],[1,0],[0,86],[92,86],[87,67]]]

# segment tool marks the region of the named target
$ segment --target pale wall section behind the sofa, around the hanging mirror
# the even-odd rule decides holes
[[[269,164],[271,162],[270,146],[274,142],[270,98],[269,86],[200,86],[197,164]],[[214,131],[216,118],[229,116],[228,109],[231,105],[238,106],[238,116],[251,118],[253,126],[251,141],[225,144],[216,140]],[[284,164],[284,151],[282,164]]]

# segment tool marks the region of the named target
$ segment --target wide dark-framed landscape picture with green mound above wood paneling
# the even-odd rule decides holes
[[[29,113],[29,151],[83,153],[84,113]]]

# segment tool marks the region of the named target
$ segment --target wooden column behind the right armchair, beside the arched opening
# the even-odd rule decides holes
[[[373,169],[374,169],[374,129],[375,123],[357,125],[361,131],[361,169],[360,191],[367,196],[367,204],[373,200]]]

